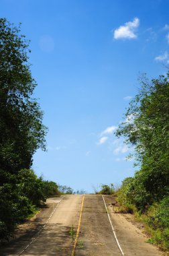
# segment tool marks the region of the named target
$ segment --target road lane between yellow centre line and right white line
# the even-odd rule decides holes
[[[76,255],[121,255],[101,195],[85,195]]]

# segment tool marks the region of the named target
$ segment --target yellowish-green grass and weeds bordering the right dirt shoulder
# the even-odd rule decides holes
[[[135,221],[142,223],[145,233],[148,234],[147,243],[156,245],[159,249],[169,255],[169,197],[164,197],[161,201],[154,201],[151,205],[146,205],[144,209],[138,210],[135,205],[129,203],[129,198],[125,191],[117,193],[118,204],[113,207],[117,213],[134,214]]]

